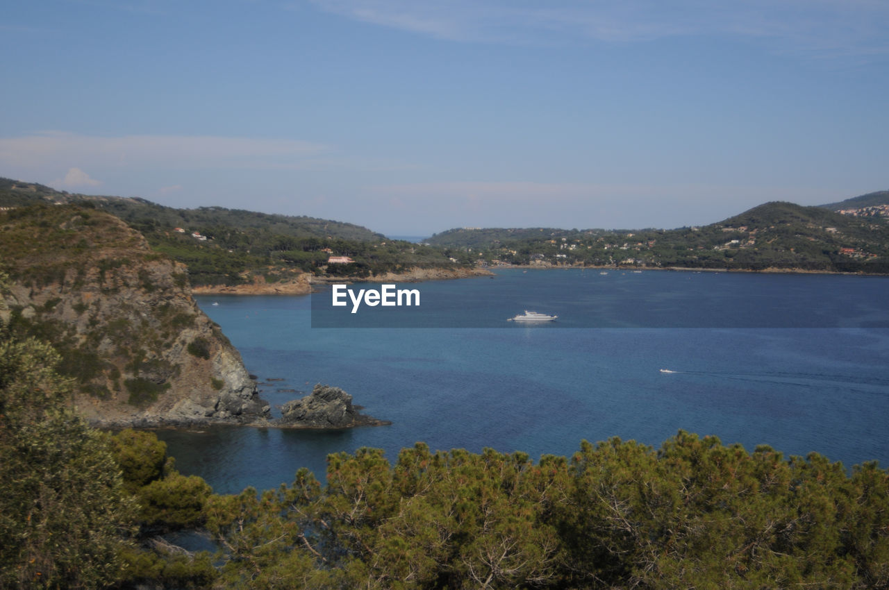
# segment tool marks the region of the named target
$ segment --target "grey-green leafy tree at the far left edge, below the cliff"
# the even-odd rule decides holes
[[[0,587],[92,588],[120,578],[132,522],[107,437],[65,409],[51,347],[0,325]]]

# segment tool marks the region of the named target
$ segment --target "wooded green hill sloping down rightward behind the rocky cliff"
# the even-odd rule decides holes
[[[80,203],[124,219],[152,249],[187,265],[191,283],[200,287],[308,292],[309,276],[362,279],[416,268],[460,270],[442,251],[330,219],[223,207],[174,209],[140,198],[72,195],[0,179],[0,207],[33,203]],[[332,256],[350,261],[330,264]]]

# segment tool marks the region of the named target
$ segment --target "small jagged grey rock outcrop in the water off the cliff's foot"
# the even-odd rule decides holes
[[[301,400],[287,402],[278,426],[293,428],[350,428],[391,424],[359,413],[352,396],[340,387],[318,384]]]

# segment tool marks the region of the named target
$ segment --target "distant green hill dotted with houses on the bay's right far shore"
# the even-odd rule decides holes
[[[701,227],[453,229],[429,241],[493,265],[889,273],[889,225],[795,203],[765,203]]]

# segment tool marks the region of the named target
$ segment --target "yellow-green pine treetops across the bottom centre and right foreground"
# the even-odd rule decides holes
[[[752,454],[680,431],[571,460],[418,443],[329,458],[327,485],[212,497],[220,586],[889,587],[876,463]]]

